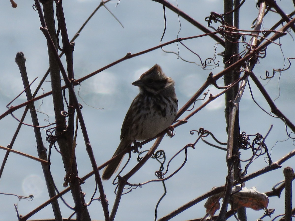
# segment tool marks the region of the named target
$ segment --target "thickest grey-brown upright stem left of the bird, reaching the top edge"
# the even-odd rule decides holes
[[[57,52],[57,38],[55,35],[55,19],[54,19],[54,10],[53,10],[53,1],[47,1],[43,4],[44,11],[44,19],[45,26],[48,29],[50,37],[55,47],[55,51],[50,47],[50,43],[47,42],[48,47],[48,57],[49,57],[49,67],[50,67],[50,79],[51,79],[51,88],[53,95],[53,106],[55,112],[55,122],[57,124],[55,135],[57,136],[58,146],[62,153],[63,164],[65,167],[65,171],[68,174],[69,171],[73,172],[70,165],[70,158],[72,153],[72,144],[73,142],[68,142],[68,133],[65,133],[65,129],[67,128],[65,123],[65,116],[61,114],[61,111],[64,110],[63,105],[63,93],[61,88],[61,77],[60,77],[60,68],[58,63],[56,62],[54,56],[55,52]],[[40,15],[40,14],[39,14]],[[41,22],[42,23],[42,22]],[[73,137],[73,136],[72,136]],[[72,138],[73,139],[73,138]],[[71,140],[71,139],[70,139]],[[78,176],[76,161],[72,164],[74,168],[74,176]],[[91,220],[87,207],[83,209],[83,204],[85,204],[84,200],[81,197],[81,188],[80,183],[76,180],[76,182],[70,183],[73,199],[76,205],[77,211],[77,220]],[[84,214],[84,215],[83,215]]]

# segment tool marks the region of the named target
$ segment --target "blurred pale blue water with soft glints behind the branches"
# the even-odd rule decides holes
[[[171,4],[179,7],[186,14],[190,15],[196,21],[204,26],[207,22],[204,18],[210,15],[211,11],[219,14],[223,13],[223,1],[218,0],[186,0],[170,1]],[[6,105],[13,100],[23,90],[23,84],[19,69],[15,63],[15,55],[22,51],[26,57],[26,66],[29,81],[32,82],[35,77],[38,79],[32,84],[32,90],[35,90],[40,79],[48,68],[47,42],[40,31],[40,20],[37,11],[34,11],[32,5],[34,1],[17,1],[17,8],[12,8],[8,0],[1,2],[0,7],[0,113],[4,113]],[[69,38],[71,39],[78,31],[84,21],[89,17],[92,11],[99,5],[99,1],[93,0],[71,0],[63,1],[63,9],[66,18]],[[294,5],[291,0],[278,1],[279,6],[286,14],[294,11]],[[240,29],[250,30],[250,26],[257,17],[258,9],[255,1],[245,1],[240,8]],[[75,50],[73,52],[75,78],[78,79],[88,75],[95,70],[108,65],[122,57],[128,52],[132,54],[142,50],[155,47],[159,44],[164,30],[163,6],[154,1],[110,1],[106,4],[107,8],[119,19],[124,28],[109,13],[101,7],[94,17],[89,21],[86,27],[81,31],[80,36],[75,40]],[[165,10],[167,27],[162,43],[171,41],[178,37],[190,37],[203,34],[199,29],[179,18],[177,14]],[[262,29],[270,29],[280,17],[275,13],[268,13],[264,18]],[[215,28],[217,24],[213,24]],[[213,31],[213,30],[212,30]],[[277,40],[281,43],[279,47],[271,44],[267,48],[266,58],[260,59],[253,72],[256,76],[265,78],[266,70],[272,74],[274,69],[283,69],[288,67],[287,57],[294,57],[294,33],[287,34],[282,39]],[[250,38],[246,40],[249,41]],[[79,102],[83,105],[82,113],[89,133],[91,146],[98,165],[103,164],[111,158],[120,141],[120,131],[124,116],[138,93],[138,88],[131,83],[150,67],[158,63],[163,71],[176,81],[176,94],[178,96],[179,107],[182,107],[191,96],[206,81],[210,72],[214,75],[223,70],[223,58],[217,53],[221,53],[224,48],[218,45],[214,48],[216,42],[210,37],[191,39],[183,42],[197,53],[204,62],[207,58],[215,58],[218,65],[212,64],[205,69],[200,66],[199,58],[184,48],[181,44],[171,44],[164,47],[166,51],[178,53],[184,60],[196,62],[189,63],[181,60],[178,55],[166,53],[161,49],[134,57],[120,62],[113,67],[85,80],[81,85],[75,88],[79,97]],[[242,44],[240,51],[243,50]],[[62,58],[64,64],[65,60]],[[47,79],[42,85],[43,92],[50,91],[50,79]],[[218,80],[220,86],[223,85],[223,79]],[[278,108],[292,121],[295,122],[294,105],[294,68],[277,72],[269,80],[261,80],[271,98],[275,100]],[[270,108],[263,98],[255,84],[250,80],[252,92],[255,100],[268,113]],[[217,94],[221,90],[209,87],[209,93]],[[208,97],[207,97],[208,98]],[[207,99],[205,98],[205,100]],[[26,101],[25,94],[22,94],[11,105],[18,105]],[[197,101],[199,106],[204,101]],[[35,103],[40,125],[47,125],[55,122],[52,97],[48,96]],[[21,118],[24,108],[17,110],[14,114]],[[186,116],[186,115],[184,115]],[[183,116],[183,117],[184,117]],[[25,118],[25,123],[32,123],[30,115]],[[286,131],[286,126],[278,118],[271,117],[261,110],[253,101],[248,86],[240,103],[240,128],[247,134],[260,133],[266,135],[271,125],[268,138],[265,141],[273,161],[294,150],[294,141],[288,137],[291,130]],[[13,136],[18,122],[12,116],[6,116],[0,121],[0,145],[7,146]],[[227,142],[226,122],[224,118],[224,96],[220,96],[195,116],[189,119],[188,123],[177,127],[176,135],[169,139],[165,137],[158,147],[163,149],[167,161],[171,159],[186,144],[194,143],[197,139],[197,133],[190,134],[191,130],[205,128],[211,131],[221,142]],[[42,131],[44,145],[46,143],[45,130]],[[291,134],[294,137],[294,134]],[[252,142],[251,138],[251,142]],[[143,146],[148,150],[152,142]],[[13,149],[24,153],[37,156],[36,141],[32,127],[22,126],[19,136],[14,143]],[[0,150],[0,161],[5,155],[4,150]],[[76,156],[78,163],[79,176],[92,171],[88,154],[86,153],[83,137],[79,131]],[[248,159],[252,156],[252,151],[242,151],[241,159]],[[265,156],[265,155],[264,155]],[[264,156],[256,159],[248,169],[248,174],[267,166],[267,159]],[[132,154],[132,158],[127,165],[125,172],[133,168],[137,154]],[[180,154],[171,163],[170,171],[177,169],[184,161],[184,153]],[[195,149],[188,149],[188,159],[185,166],[165,182],[167,194],[160,202],[158,207],[158,218],[167,215],[183,204],[195,199],[196,197],[208,192],[213,187],[224,185],[227,176],[226,152],[208,146],[199,141]],[[125,156],[124,162],[127,157]],[[51,172],[59,190],[63,190],[63,177],[65,176],[64,167],[60,154],[52,151]],[[124,163],[123,162],[123,163]],[[123,164],[122,164],[123,165]],[[286,166],[295,166],[295,161],[290,159],[282,165],[281,169],[271,171],[260,177],[248,181],[245,185],[248,188],[256,187],[259,192],[268,192],[279,181],[283,180],[283,168]],[[156,179],[155,171],[160,164],[150,159],[131,179],[130,183],[143,183],[150,179]],[[122,166],[121,166],[122,168]],[[245,164],[242,163],[242,168]],[[124,174],[123,171],[123,174]],[[109,200],[109,209],[114,203],[114,189],[112,180],[104,181],[104,190]],[[82,186],[86,193],[85,200],[88,202],[94,192],[94,177],[87,180]],[[19,200],[15,196],[0,195],[0,220],[17,220],[17,214],[14,204],[17,204],[19,214],[25,215],[37,206],[48,200],[48,193],[40,167],[40,163],[32,161],[23,156],[10,154],[7,160],[4,173],[0,180],[0,192],[11,193],[22,196],[34,195],[32,201]],[[154,220],[155,205],[164,193],[163,185],[160,182],[153,182],[132,190],[132,192],[123,195],[117,216],[115,220]],[[96,194],[99,197],[99,194]],[[64,199],[73,204],[70,193],[64,196]],[[293,201],[294,202],[294,201]],[[203,207],[204,202],[200,202],[172,220],[190,220],[203,217],[206,212]],[[59,201],[63,217],[71,215],[69,210],[61,201]],[[268,208],[275,208],[276,215],[284,213],[284,194],[281,198],[270,197]],[[100,202],[94,201],[89,206],[89,212],[93,220],[104,220]],[[218,213],[218,211],[217,211]],[[256,220],[263,216],[264,211],[254,211],[247,209],[248,220]],[[53,218],[51,205],[37,212],[31,219]],[[235,220],[231,217],[229,220]],[[266,218],[265,220],[271,220]]]

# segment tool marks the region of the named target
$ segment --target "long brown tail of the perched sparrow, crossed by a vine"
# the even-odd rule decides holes
[[[124,151],[128,146],[130,146],[132,143],[132,141],[126,141],[124,140],[124,138],[121,140],[117,150],[115,151],[114,156],[118,155],[119,153],[121,153],[122,151]],[[112,175],[118,170],[122,160],[123,160],[124,155],[122,155],[121,157],[118,157],[117,159],[115,159],[114,161],[112,161],[109,165],[106,166],[106,168],[104,168],[104,171],[102,173],[101,178],[103,180],[108,180],[112,177]]]

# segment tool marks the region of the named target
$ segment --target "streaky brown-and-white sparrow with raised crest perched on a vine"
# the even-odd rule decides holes
[[[127,111],[121,129],[121,142],[113,157],[130,147],[132,142],[153,138],[170,127],[177,113],[175,82],[162,72],[158,64],[143,73],[132,85],[138,86],[140,93]],[[106,166],[102,179],[109,179],[122,159],[123,156]]]

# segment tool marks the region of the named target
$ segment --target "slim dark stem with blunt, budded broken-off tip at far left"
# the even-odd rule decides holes
[[[15,62],[19,66],[20,74],[22,76],[22,81],[23,81],[25,92],[27,95],[27,100],[31,100],[33,97],[32,97],[32,92],[31,92],[31,89],[29,86],[30,83],[29,83],[28,76],[27,76],[27,70],[25,67],[26,59],[24,58],[24,54],[22,52],[17,53],[16,58],[15,58]],[[34,105],[34,103],[30,103],[28,106],[29,106],[30,113],[31,113],[32,123],[34,125],[34,132],[35,132],[35,138],[36,138],[36,143],[37,143],[38,156],[40,159],[47,160],[46,148],[43,146],[41,131],[40,131],[40,128],[38,127],[39,122],[38,122],[38,118],[37,118],[37,112],[35,110],[35,105]],[[55,189],[54,189],[54,181],[53,181],[52,177],[50,176],[50,172],[48,171],[47,165],[41,164],[41,166],[42,166],[42,170],[43,170],[43,174],[44,174],[49,197],[52,198],[56,194]],[[53,208],[55,220],[60,220],[60,221],[63,220],[57,200],[54,200],[52,202],[52,208]]]

